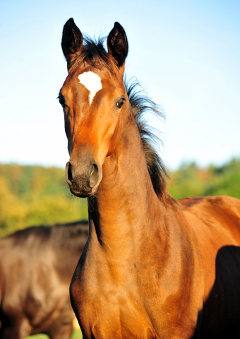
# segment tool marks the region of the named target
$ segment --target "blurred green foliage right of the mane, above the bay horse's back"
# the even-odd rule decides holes
[[[183,164],[170,174],[169,191],[175,199],[187,196],[234,196],[240,198],[240,159],[217,167],[199,168],[196,163]]]

